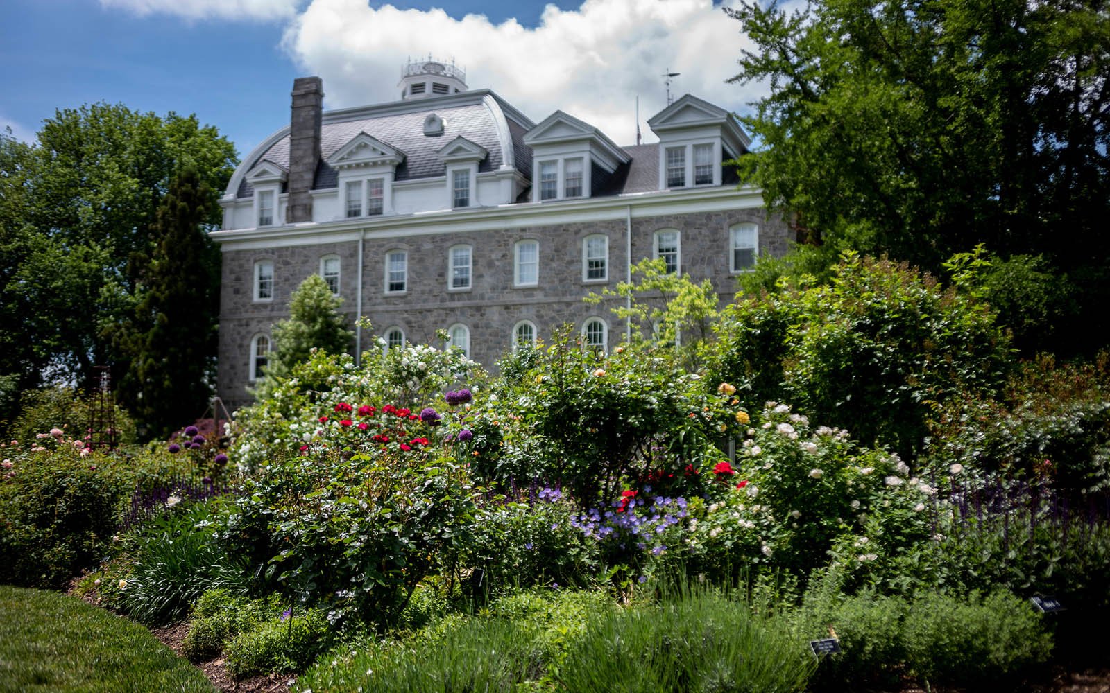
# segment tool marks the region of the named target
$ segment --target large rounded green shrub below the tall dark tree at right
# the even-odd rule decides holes
[[[713,378],[912,459],[935,406],[1001,385],[1006,336],[985,306],[905,264],[846,254],[834,273],[729,306]]]

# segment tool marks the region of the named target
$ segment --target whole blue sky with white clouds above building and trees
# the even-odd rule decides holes
[[[548,4],[553,7],[547,7]],[[408,57],[467,70],[535,121],[563,109],[618,143],[665,105],[666,70],[743,111],[726,85],[744,45],[719,0],[7,0],[0,128],[33,137],[56,109],[107,101],[196,113],[245,155],[289,118],[294,77],[319,74],[325,108],[395,98]],[[477,17],[478,14],[484,17]],[[646,125],[642,128],[647,131]]]

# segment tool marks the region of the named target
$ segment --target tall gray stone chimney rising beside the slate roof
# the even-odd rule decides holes
[[[319,77],[293,80],[293,108],[289,125],[290,224],[312,221],[312,183],[320,163],[320,121],[324,103],[324,81]]]

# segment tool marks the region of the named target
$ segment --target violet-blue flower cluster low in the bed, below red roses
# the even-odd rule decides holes
[[[615,544],[620,549],[635,547],[659,556],[667,550],[662,534],[686,517],[686,499],[659,496],[650,500],[635,498],[613,502],[614,510],[592,508],[571,518],[571,524],[587,538]]]

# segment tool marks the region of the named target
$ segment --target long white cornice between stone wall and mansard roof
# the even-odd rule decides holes
[[[761,207],[757,187],[654,191],[613,197],[523,203],[475,210],[443,210],[375,218],[339,220],[295,226],[236,228],[209,234],[224,252],[316,245],[365,238],[393,238],[491,230],[619,221]]]

